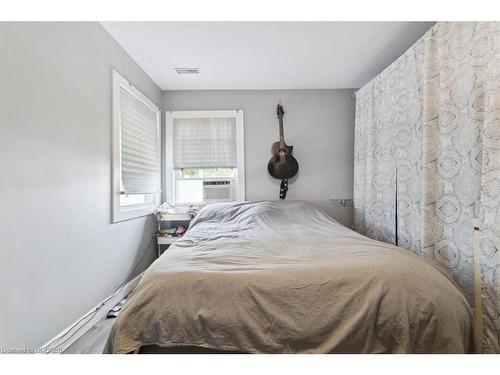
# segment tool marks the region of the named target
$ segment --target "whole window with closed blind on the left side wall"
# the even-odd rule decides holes
[[[113,71],[113,222],[160,204],[160,110]]]

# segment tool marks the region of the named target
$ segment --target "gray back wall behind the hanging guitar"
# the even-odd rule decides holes
[[[186,79],[196,79],[187,77]],[[354,172],[353,90],[164,91],[164,110],[244,110],[246,199],[278,199],[280,180],[267,172],[271,144],[279,139],[276,104],[285,108],[285,141],[293,145],[299,173],[287,199],[313,200],[339,221],[352,224],[352,207],[331,198],[352,198]]]

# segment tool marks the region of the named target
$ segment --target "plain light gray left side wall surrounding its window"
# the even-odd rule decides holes
[[[0,348],[36,348],[150,243],[151,216],[111,224],[111,69],[161,91],[96,22],[0,23],[0,55]]]

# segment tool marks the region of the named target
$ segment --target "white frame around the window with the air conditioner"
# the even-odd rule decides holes
[[[167,203],[175,202],[175,169],[174,169],[174,119],[179,118],[211,118],[228,117],[236,120],[236,182],[235,201],[245,200],[245,129],[242,109],[221,111],[165,111],[165,191]],[[228,179],[227,177],[220,177]],[[217,179],[213,177],[211,179]]]

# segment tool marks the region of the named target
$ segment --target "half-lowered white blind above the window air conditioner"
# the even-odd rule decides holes
[[[176,118],[174,168],[237,168],[236,118]]]

